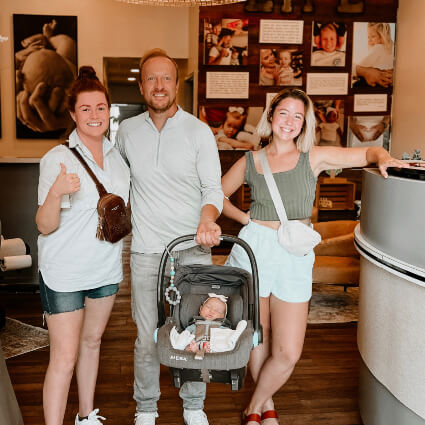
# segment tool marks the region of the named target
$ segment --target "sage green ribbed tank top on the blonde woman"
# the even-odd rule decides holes
[[[251,189],[250,217],[256,220],[279,221],[266,180],[255,168],[252,151],[245,154],[245,182]],[[289,220],[311,216],[317,179],[310,167],[308,152],[301,152],[297,165],[288,171],[273,173]]]

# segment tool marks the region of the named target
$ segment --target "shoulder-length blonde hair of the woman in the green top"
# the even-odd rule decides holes
[[[304,124],[300,134],[295,138],[297,149],[300,152],[308,152],[314,146],[316,132],[316,118],[311,99],[299,89],[288,88],[279,92],[271,101],[268,109],[265,109],[257,124],[257,134],[263,139],[273,139],[272,119],[276,107],[286,98],[301,100],[304,104]]]

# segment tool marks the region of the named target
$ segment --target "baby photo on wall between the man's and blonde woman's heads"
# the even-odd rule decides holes
[[[263,110],[242,105],[201,106],[199,119],[210,126],[219,150],[258,150],[260,137],[255,128]]]

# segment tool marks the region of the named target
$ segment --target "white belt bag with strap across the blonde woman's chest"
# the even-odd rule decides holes
[[[307,255],[322,240],[322,237],[312,226],[307,226],[299,220],[288,220],[276,181],[270,170],[266,150],[261,149],[258,155],[270,196],[280,220],[280,226],[277,231],[279,243],[291,254],[299,257]]]

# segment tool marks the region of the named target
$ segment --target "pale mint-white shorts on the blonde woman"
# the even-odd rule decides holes
[[[239,238],[254,252],[258,267],[260,297],[273,294],[282,301],[309,301],[312,291],[314,251],[304,257],[290,254],[279,244],[277,231],[250,221],[242,228]],[[245,250],[234,245],[226,265],[251,272]]]

